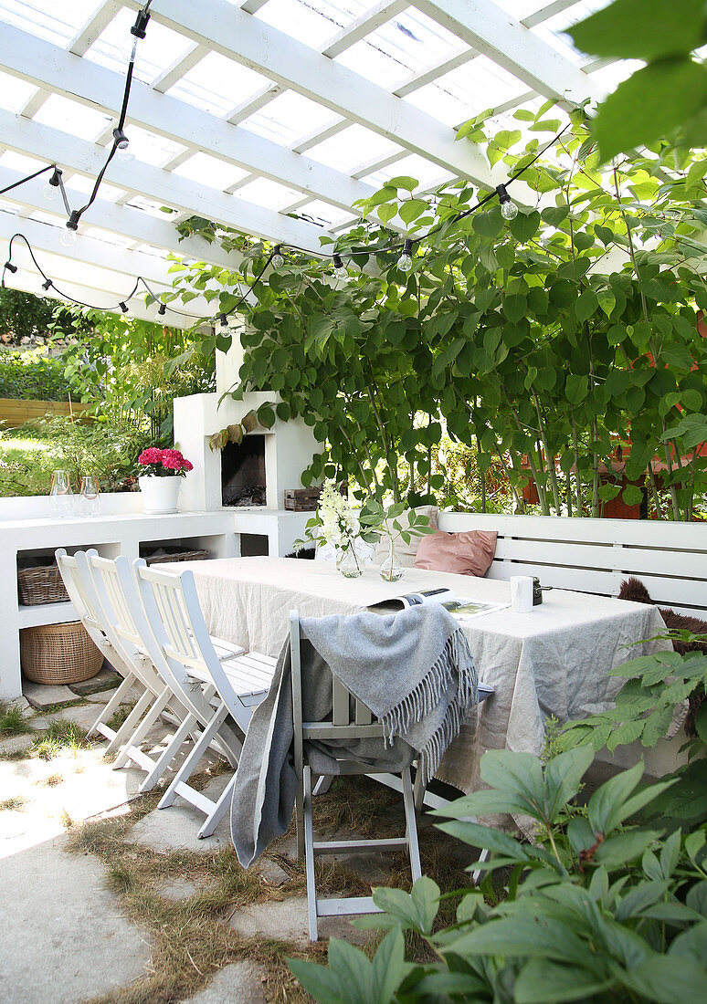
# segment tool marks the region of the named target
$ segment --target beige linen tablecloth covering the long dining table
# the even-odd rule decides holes
[[[508,582],[412,568],[401,582],[384,582],[369,567],[345,579],[327,561],[226,558],[185,562],[192,568],[209,631],[246,649],[276,656],[289,611],[303,616],[353,613],[400,593],[445,585],[459,596],[508,602]],[[478,787],[478,764],[487,749],[539,753],[545,718],[564,722],[604,711],[623,681],[611,669],[671,648],[634,643],[665,630],[654,606],[560,589],[544,593],[529,613],[509,608],[465,621],[479,680],[492,698],[469,716],[437,776],[469,793]]]

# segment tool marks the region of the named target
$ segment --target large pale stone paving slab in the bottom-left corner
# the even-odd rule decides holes
[[[138,979],[150,960],[100,862],[64,846],[60,837],[0,860],[3,1004],[76,1004]]]

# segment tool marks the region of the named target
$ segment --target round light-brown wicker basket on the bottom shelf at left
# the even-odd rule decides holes
[[[103,657],[79,620],[20,632],[20,664],[35,684],[78,684],[100,670]]]

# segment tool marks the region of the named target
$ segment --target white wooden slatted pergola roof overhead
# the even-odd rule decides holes
[[[153,0],[126,126],[135,159],[112,161],[71,248],[58,240],[60,200],[43,198],[47,176],[8,193],[2,253],[23,233],[61,288],[108,307],[137,275],[171,289],[169,252],[233,264],[218,243],[179,240],[175,223],[194,214],[316,252],[397,175],[422,190],[457,178],[495,186],[503,165],[492,171],[455,128],[488,107],[499,127],[518,127],[513,109],[546,98],[561,117],[613,89],[627,64],[587,61],[562,34],[607,2]],[[56,164],[71,205],[85,201],[143,6],[0,0],[0,188]],[[17,242],[13,262],[7,284],[43,292]],[[203,299],[185,309],[213,313]],[[156,313],[142,296],[131,310]]]

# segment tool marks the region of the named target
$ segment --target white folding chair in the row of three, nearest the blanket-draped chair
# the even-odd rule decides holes
[[[167,808],[181,795],[206,815],[198,835],[209,836],[230,804],[235,779],[231,779],[216,802],[187,782],[209,745],[219,739],[225,727],[235,723],[245,735],[253,709],[267,694],[275,660],[254,652],[219,659],[204,622],[193,573],[185,569],[174,574],[148,567],[143,561],[136,561],[134,567],[152,629],[155,659],[163,660],[175,677],[186,676],[214,695],[210,720],[202,723],[201,735],[159,803],[159,808]],[[240,756],[240,743],[235,756]],[[234,759],[229,759],[235,766]]]

